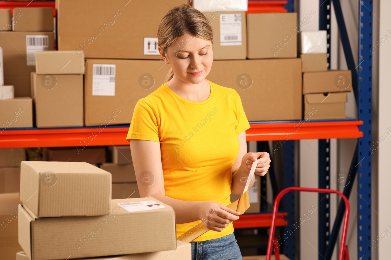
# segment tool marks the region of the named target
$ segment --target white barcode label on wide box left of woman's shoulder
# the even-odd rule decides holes
[[[115,64],[93,64],[92,95],[115,96]]]

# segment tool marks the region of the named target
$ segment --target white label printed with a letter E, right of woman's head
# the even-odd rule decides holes
[[[242,14],[220,14],[220,45],[242,45]]]

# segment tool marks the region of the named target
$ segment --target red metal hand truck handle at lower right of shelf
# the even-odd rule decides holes
[[[346,243],[346,234],[348,232],[348,223],[349,223],[349,214],[350,214],[350,205],[349,200],[339,191],[330,190],[330,189],[314,189],[314,188],[301,188],[301,187],[290,187],[283,189],[280,193],[278,193],[276,200],[274,201],[273,208],[273,218],[270,227],[269,234],[269,242],[267,243],[267,253],[266,260],[271,260],[272,251],[274,251],[274,256],[276,260],[280,260],[280,250],[278,248],[278,239],[274,237],[274,232],[276,230],[276,218],[278,213],[278,205],[280,204],[280,200],[282,196],[284,196],[287,192],[290,191],[307,191],[307,192],[318,192],[318,193],[336,193],[343,198],[345,201],[345,219],[343,223],[342,230],[342,239],[341,239],[341,251],[339,251],[339,260],[349,260],[349,251]]]

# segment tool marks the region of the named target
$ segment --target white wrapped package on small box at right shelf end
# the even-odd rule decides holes
[[[305,31],[298,35],[298,52],[327,53],[327,31]]]

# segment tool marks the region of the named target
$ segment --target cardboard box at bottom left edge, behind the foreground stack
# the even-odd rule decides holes
[[[19,193],[0,194],[0,252],[1,258],[15,260],[18,244]]]

